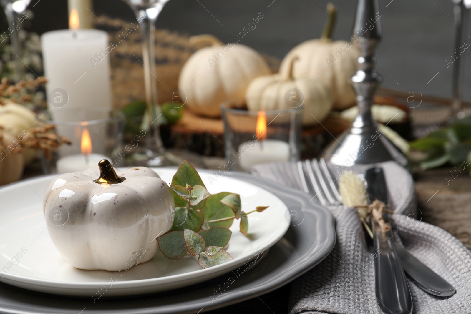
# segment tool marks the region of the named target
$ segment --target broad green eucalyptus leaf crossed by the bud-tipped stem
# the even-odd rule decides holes
[[[206,222],[209,220],[216,220],[216,219],[222,219],[222,218],[234,216],[234,212],[232,211],[232,209],[229,206],[221,203],[221,200],[229,194],[231,193],[221,192],[217,194],[212,194],[210,197],[206,199],[206,203],[204,204],[204,207],[201,209],[201,213],[203,214],[204,220]],[[229,219],[226,221],[208,223],[207,225],[208,227],[221,226],[221,227],[229,228],[232,225],[233,221],[234,219]]]

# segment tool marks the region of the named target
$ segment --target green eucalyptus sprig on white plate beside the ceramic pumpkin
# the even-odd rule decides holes
[[[247,236],[247,215],[268,208],[257,206],[246,213],[239,194],[209,193],[196,169],[187,161],[180,164],[171,188],[175,200],[174,221],[171,230],[157,238],[159,248],[170,259],[183,258],[187,253],[198,256],[198,264],[203,268],[232,260],[224,248],[231,238],[229,227],[234,219],[240,219],[240,232]]]

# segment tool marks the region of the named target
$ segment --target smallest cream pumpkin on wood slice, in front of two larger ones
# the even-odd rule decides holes
[[[249,110],[282,110],[303,105],[303,125],[315,125],[324,120],[332,109],[330,88],[322,81],[294,79],[292,68],[296,60],[294,57],[290,61],[286,73],[259,76],[250,83],[245,93]]]

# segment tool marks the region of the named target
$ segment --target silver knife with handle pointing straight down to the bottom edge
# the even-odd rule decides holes
[[[381,168],[366,170],[365,180],[370,201],[378,199],[388,204],[386,180]],[[389,223],[389,214],[383,219]],[[406,280],[406,274],[396,250],[396,243],[391,230],[381,230],[377,222],[373,225],[374,285],[376,301],[383,314],[411,314],[412,296]]]

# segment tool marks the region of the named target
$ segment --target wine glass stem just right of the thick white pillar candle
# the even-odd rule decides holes
[[[141,11],[142,12],[142,11]],[[144,11],[145,12],[145,11]],[[146,88],[147,119],[149,133],[146,139],[146,148],[156,154],[162,154],[164,147],[160,137],[159,124],[157,123],[157,76],[155,75],[155,21],[157,16],[149,17],[148,14],[140,22],[142,30],[142,58],[144,63],[144,83]]]

